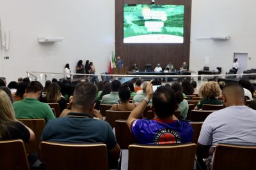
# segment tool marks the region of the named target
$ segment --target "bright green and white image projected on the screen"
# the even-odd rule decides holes
[[[124,4],[124,43],[183,43],[184,5]]]

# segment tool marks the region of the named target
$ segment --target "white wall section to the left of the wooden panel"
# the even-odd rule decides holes
[[[0,76],[8,81],[26,71],[74,73],[79,59],[92,60],[97,73],[107,71],[115,48],[115,0],[0,0],[2,27],[10,29],[10,50],[0,52]],[[40,44],[38,36],[65,38]],[[9,60],[3,60],[9,56]]]

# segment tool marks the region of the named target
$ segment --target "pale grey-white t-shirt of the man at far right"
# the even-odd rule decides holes
[[[247,106],[230,106],[211,113],[202,125],[198,143],[256,145],[256,111]]]

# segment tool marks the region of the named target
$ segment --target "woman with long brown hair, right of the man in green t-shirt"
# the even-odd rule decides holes
[[[44,103],[58,103],[60,106],[60,112],[67,108],[67,101],[61,96],[60,86],[57,83],[52,83],[46,92],[45,97],[42,99]]]

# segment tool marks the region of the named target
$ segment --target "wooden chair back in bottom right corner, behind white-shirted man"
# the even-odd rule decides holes
[[[215,148],[212,170],[255,169],[256,146],[218,144]]]

